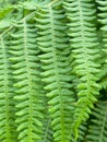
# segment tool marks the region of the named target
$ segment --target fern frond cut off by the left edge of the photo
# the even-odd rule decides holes
[[[0,37],[0,141],[14,142],[14,102],[12,70],[9,61],[9,39]]]

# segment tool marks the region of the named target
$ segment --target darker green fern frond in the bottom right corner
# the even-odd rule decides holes
[[[107,103],[99,102],[93,111],[87,142],[107,142]]]

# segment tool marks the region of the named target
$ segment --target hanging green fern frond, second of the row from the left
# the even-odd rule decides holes
[[[13,63],[15,80],[15,121],[20,142],[35,142],[41,139],[44,94],[39,76],[36,33],[34,24],[24,19],[16,24],[15,31],[11,34],[10,60]]]

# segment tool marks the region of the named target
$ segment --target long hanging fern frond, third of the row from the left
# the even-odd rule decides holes
[[[49,98],[49,113],[54,130],[54,142],[70,142],[72,109],[70,48],[63,23],[64,13],[60,3],[48,4],[37,12],[38,46],[43,62],[43,81]]]

